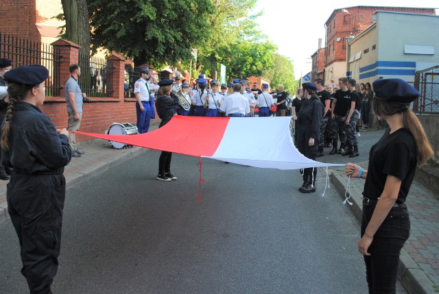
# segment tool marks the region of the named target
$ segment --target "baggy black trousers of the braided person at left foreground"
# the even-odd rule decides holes
[[[30,293],[47,289],[58,270],[64,175],[25,175],[12,170],[6,192],[8,211],[20,243]]]

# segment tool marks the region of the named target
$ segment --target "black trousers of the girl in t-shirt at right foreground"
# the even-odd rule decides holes
[[[405,205],[390,210],[364,256],[369,293],[396,293],[399,254],[410,235],[409,212]],[[375,206],[363,206],[361,236],[372,218]]]

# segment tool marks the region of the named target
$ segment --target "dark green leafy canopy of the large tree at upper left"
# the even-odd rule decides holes
[[[209,36],[210,0],[89,0],[93,49],[105,47],[135,64],[191,58]]]

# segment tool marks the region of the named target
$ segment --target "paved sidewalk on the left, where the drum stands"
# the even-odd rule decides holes
[[[160,121],[160,119],[151,121],[150,131],[157,130]],[[85,154],[80,158],[72,158],[64,169],[67,189],[149,150],[139,147],[113,149],[108,141],[102,139],[81,142],[80,147],[85,151]],[[9,218],[8,203],[6,202],[8,182],[0,180],[0,222]]]

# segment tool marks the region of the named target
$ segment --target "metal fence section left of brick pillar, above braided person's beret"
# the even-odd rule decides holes
[[[40,64],[49,69],[46,96],[60,96],[60,53],[51,45],[0,32],[0,57],[14,61],[13,67]]]

